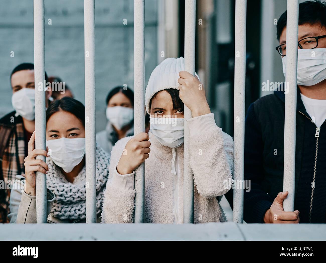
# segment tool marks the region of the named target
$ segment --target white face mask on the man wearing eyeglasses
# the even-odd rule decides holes
[[[282,57],[283,74],[286,56]],[[297,84],[312,86],[326,79],[326,48],[298,49]]]

